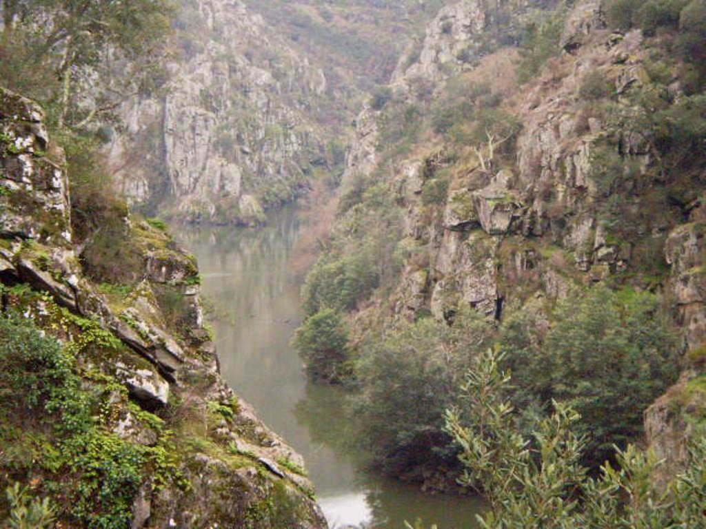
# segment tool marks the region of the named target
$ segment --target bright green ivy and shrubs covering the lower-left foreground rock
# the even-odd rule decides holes
[[[80,324],[83,338],[90,339],[91,325]],[[51,449],[35,458],[52,477],[44,480],[44,490],[66,499],[62,518],[82,527],[122,528],[131,519],[152,449],[104,429],[98,415],[105,388],[85,384],[70,351],[75,349],[45,336],[32,320],[0,317],[0,399],[16,414],[33,413],[52,432]],[[23,427],[30,425],[25,418]]]

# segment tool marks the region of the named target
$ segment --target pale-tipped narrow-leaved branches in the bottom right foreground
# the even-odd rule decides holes
[[[666,528],[706,523],[706,438],[691,448],[687,469],[664,493],[654,489],[659,466],[654,454],[630,445],[618,450],[617,468],[602,467],[590,478],[582,459],[584,443],[573,431],[579,415],[554,403],[539,421],[534,439],[515,428],[513,408],[503,400],[510,377],[502,355],[487,351],[462,386],[462,408],[448,411],[446,425],[461,446],[463,482],[482,486],[493,509],[479,516],[483,528]],[[464,420],[460,413],[465,413]]]

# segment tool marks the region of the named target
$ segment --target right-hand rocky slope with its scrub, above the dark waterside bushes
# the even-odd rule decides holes
[[[662,295],[686,357],[646,430],[674,470],[706,402],[698,54],[670,52],[674,30],[610,30],[598,0],[531,8],[443,8],[389,101],[359,116],[309,310],[347,314],[350,370],[366,339],[405,320],[524,315],[541,343],[556,304],[594,285]],[[508,18],[533,28],[519,53]],[[350,284],[364,287],[345,297]]]

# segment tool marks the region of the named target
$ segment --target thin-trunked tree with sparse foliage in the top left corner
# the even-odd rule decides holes
[[[37,94],[56,107],[59,128],[88,125],[160,77],[167,0],[4,0],[3,9],[1,46],[14,46],[16,63],[60,80]],[[79,97],[82,85],[89,97]]]

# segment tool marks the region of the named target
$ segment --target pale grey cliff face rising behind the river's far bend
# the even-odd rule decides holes
[[[325,166],[325,74],[237,0],[182,4],[169,82],[121,109],[112,170],[135,205],[257,223]]]

